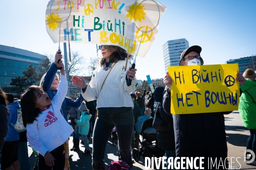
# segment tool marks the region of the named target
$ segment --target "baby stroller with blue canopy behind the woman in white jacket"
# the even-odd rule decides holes
[[[139,140],[141,147],[138,150],[134,148],[132,150],[132,156],[136,162],[140,161],[140,157],[162,157],[165,155],[165,151],[159,149],[156,139],[156,130],[153,128],[153,120],[151,116],[140,116],[135,124],[135,135],[139,138],[139,134],[142,137],[142,141]],[[155,142],[153,142],[155,141]]]

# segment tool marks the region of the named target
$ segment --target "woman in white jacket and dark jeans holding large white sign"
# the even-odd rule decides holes
[[[131,69],[128,63],[126,71],[127,52],[119,46],[100,45],[103,58],[92,75],[89,85],[82,77],[72,77],[73,84],[82,88],[82,96],[86,101],[97,99],[97,119],[93,132],[92,168],[103,170],[106,144],[112,129],[116,127],[121,160],[132,167],[130,144],[134,118],[132,114],[132,98],[130,92],[137,88],[135,74],[137,69]],[[132,59],[132,55],[129,55]],[[129,69],[128,69],[129,68]],[[129,77],[132,76],[132,77]],[[127,86],[128,78],[132,84]]]

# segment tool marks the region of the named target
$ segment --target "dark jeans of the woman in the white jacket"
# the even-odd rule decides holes
[[[98,108],[92,141],[92,167],[101,169],[104,166],[106,145],[112,129],[116,127],[118,147],[121,160],[132,164],[131,141],[134,118],[131,107]]]

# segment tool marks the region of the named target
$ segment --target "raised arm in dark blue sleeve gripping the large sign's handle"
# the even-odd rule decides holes
[[[44,77],[44,83],[43,83],[43,90],[44,92],[47,92],[50,88],[50,86],[52,85],[53,83],[53,80],[55,78],[55,75],[58,71],[58,60],[62,59],[62,55],[61,54],[58,54],[60,51],[57,51],[56,52],[56,55],[55,55],[55,59],[54,59],[54,63],[52,64],[52,66],[50,67],[50,69],[47,71],[45,77]]]

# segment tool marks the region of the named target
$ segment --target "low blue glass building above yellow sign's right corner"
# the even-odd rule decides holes
[[[249,66],[251,68],[253,68],[253,64],[254,62],[256,62],[255,57],[243,57],[243,58],[238,58],[238,59],[231,59],[229,61],[226,61],[226,64],[234,64],[234,63],[238,63],[238,69],[239,72],[243,73],[246,69],[249,68]],[[255,66],[256,68],[256,66]]]

